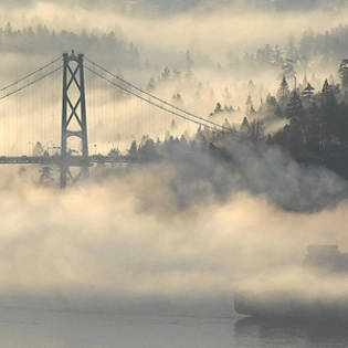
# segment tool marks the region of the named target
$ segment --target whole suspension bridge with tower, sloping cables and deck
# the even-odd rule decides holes
[[[94,164],[136,161],[130,155],[103,152],[145,134],[162,136],[171,120],[162,114],[196,127],[230,130],[138,87],[84,54],[63,53],[0,88],[0,165],[56,166],[65,188],[87,177]],[[73,167],[77,173],[73,175]]]

